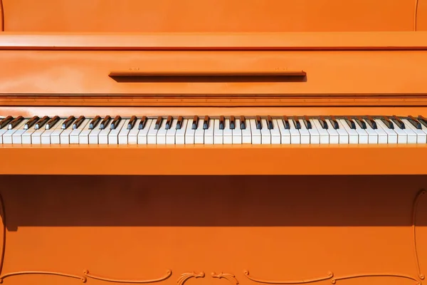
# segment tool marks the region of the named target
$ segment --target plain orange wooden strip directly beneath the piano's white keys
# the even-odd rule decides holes
[[[0,157],[4,175],[427,174],[418,144],[1,145]]]

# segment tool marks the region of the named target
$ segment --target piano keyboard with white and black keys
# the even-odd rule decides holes
[[[397,116],[96,116],[0,120],[14,145],[328,145],[427,142],[427,118]]]

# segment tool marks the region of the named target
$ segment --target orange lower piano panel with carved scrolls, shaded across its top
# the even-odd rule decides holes
[[[417,284],[412,208],[426,178],[1,176],[1,276],[11,285]],[[415,224],[426,274],[423,194]]]

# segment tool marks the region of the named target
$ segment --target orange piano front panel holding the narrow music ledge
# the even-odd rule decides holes
[[[118,40],[120,38],[117,38]],[[425,94],[426,51],[1,51],[0,93],[2,104],[37,104],[37,95],[63,95],[65,102],[119,105],[126,95],[144,95],[133,104],[147,102],[194,103],[214,95],[229,101],[241,95],[270,98],[275,104],[290,95],[334,95],[344,98],[367,95]],[[112,78],[112,71],[125,72],[300,72],[307,76],[244,78],[218,76],[191,78]],[[174,82],[177,81],[177,82]],[[179,82],[182,81],[182,82]],[[75,95],[66,99],[67,95]],[[98,95],[97,100],[93,98]],[[101,95],[101,96],[100,96]],[[103,96],[102,96],[103,95]],[[108,98],[116,95],[119,98]],[[190,96],[191,95],[191,96]],[[283,96],[281,96],[283,95]],[[100,97],[99,97],[100,96]],[[114,96],[112,96],[114,97]],[[139,99],[139,100],[138,100]],[[217,104],[226,105],[216,98]],[[50,104],[60,102],[53,99]],[[253,102],[253,98],[246,98]],[[381,100],[381,98],[376,98]],[[132,103],[127,100],[126,103]],[[212,101],[208,101],[212,103]],[[215,103],[215,101],[214,101]],[[44,103],[46,104],[46,102]]]

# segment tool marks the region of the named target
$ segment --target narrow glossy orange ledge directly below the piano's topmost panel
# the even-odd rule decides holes
[[[426,50],[426,32],[12,33],[0,49],[30,50]]]

